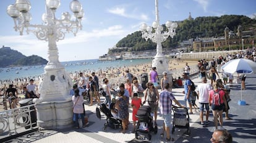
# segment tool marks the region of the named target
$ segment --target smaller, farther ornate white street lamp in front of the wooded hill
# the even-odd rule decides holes
[[[162,44],[166,39],[171,36],[173,38],[176,35],[177,23],[167,21],[165,26],[168,28],[168,31],[163,31],[163,27],[160,25],[159,15],[158,15],[158,0],[155,0],[155,10],[156,10],[156,20],[152,23],[152,27],[147,26],[146,23],[143,23],[140,27],[142,31],[142,38],[145,38],[146,41],[151,39],[153,43],[156,43],[156,55],[152,61],[152,67],[156,67],[158,73],[163,73],[163,71],[168,71],[168,60],[165,55],[163,55]],[[155,30],[153,33],[152,30]]]

